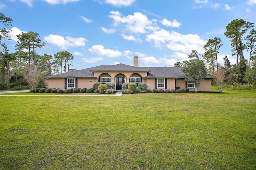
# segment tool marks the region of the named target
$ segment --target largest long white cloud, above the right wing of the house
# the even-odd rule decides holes
[[[204,53],[204,41],[196,34],[183,35],[175,31],[168,32],[164,29],[154,32],[146,36],[146,41],[154,41],[154,45],[158,48],[167,47],[172,51],[190,53],[192,49]]]

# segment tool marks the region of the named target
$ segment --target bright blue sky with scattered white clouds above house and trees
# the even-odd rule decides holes
[[[0,12],[13,19],[10,53],[16,35],[32,31],[46,43],[38,54],[69,51],[76,69],[133,65],[133,56],[139,66],[170,67],[192,49],[204,53],[215,37],[223,43],[219,62],[226,54],[234,64],[223,33],[235,19],[256,23],[256,0],[1,0]]]

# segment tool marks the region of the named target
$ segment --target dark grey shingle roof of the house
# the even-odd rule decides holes
[[[82,70],[70,71],[56,75],[50,75],[43,78],[96,78],[93,76],[94,71],[134,71],[148,72],[143,78],[185,78],[181,71],[182,67],[133,67],[125,64],[100,65]],[[206,75],[206,79],[212,79],[212,76]]]

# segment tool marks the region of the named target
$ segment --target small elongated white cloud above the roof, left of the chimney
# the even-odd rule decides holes
[[[88,49],[91,53],[96,53],[98,55],[106,55],[108,57],[119,57],[122,55],[120,51],[114,51],[112,49],[104,49],[103,45],[94,45]]]

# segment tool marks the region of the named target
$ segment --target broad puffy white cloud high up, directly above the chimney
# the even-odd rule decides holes
[[[148,31],[159,30],[159,27],[153,20],[148,20],[147,16],[140,12],[134,12],[134,15],[122,16],[118,11],[111,11],[108,17],[114,21],[114,26],[124,26],[124,28],[135,34],[145,34]]]

